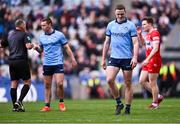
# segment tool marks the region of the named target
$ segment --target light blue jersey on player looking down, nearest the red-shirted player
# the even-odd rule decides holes
[[[133,22],[125,20],[118,23],[111,21],[106,29],[106,36],[110,37],[110,57],[116,59],[130,59],[133,56],[132,37],[137,36]]]

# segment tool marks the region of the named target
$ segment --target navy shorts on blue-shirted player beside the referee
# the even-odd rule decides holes
[[[44,65],[43,66],[43,75],[53,75],[55,73],[64,73],[63,64],[60,65]]]

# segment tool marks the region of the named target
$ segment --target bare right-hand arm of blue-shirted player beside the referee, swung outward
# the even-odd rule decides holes
[[[64,48],[66,49],[67,54],[70,56],[71,61],[72,61],[72,66],[75,68],[77,67],[77,62],[76,59],[71,51],[71,48],[69,47],[68,43],[64,45]]]

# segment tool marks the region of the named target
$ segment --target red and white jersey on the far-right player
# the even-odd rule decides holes
[[[145,36],[145,44],[146,44],[146,56],[148,56],[152,49],[152,43],[159,43],[158,51],[155,53],[153,57],[161,57],[160,55],[160,34],[157,29],[153,29],[150,33]]]

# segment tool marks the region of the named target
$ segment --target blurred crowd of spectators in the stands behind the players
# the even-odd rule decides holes
[[[8,32],[14,28],[14,21],[23,18],[27,21],[32,42],[38,43],[42,33],[40,20],[50,17],[54,28],[65,34],[78,61],[78,68],[73,70],[70,60],[65,57],[65,73],[79,75],[83,71],[100,70],[110,11],[111,0],[1,0],[0,40],[6,40]],[[179,18],[179,6],[175,0],[133,0],[128,18],[139,26],[144,16],[153,16],[165,41]],[[41,58],[36,51],[29,51],[34,79],[42,80]],[[0,66],[7,64],[8,51],[0,49]],[[3,75],[2,72],[0,74]]]

